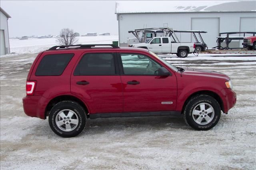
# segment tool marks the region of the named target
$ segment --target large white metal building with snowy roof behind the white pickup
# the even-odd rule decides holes
[[[208,48],[217,45],[220,32],[256,32],[256,1],[118,1],[115,13],[120,46],[134,38],[128,31],[142,28],[206,31],[202,37]],[[194,42],[188,33],[178,37]],[[241,40],[232,41],[232,46],[242,47]]]

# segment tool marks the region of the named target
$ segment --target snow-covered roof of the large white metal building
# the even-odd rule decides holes
[[[256,12],[256,1],[172,0],[117,1],[116,14],[197,12]]]

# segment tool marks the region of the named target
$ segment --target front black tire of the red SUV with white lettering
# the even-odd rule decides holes
[[[203,103],[205,103],[205,104],[203,104]],[[205,114],[205,112],[207,110],[207,108],[205,107],[206,110],[204,112],[199,111],[200,115],[198,113],[198,117],[197,117],[197,115],[193,115],[194,109],[200,107],[200,106],[198,106],[199,104],[201,104],[201,105],[203,104],[205,106],[207,106],[207,105],[211,106],[213,108],[213,112]],[[210,107],[208,107],[208,109],[209,108]],[[209,129],[213,128],[220,120],[220,113],[221,113],[220,105],[213,97],[211,97],[209,95],[196,95],[196,96],[192,97],[186,104],[186,106],[184,108],[183,118],[184,118],[185,122],[188,125],[190,125],[190,127],[194,128],[196,130],[209,130]],[[206,119],[204,119],[204,117],[206,117],[206,116],[212,117],[209,120],[209,122],[207,122]],[[201,117],[201,119],[202,119],[201,125],[196,122],[196,120],[198,120],[199,117]],[[202,124],[204,124],[204,125],[202,125]]]

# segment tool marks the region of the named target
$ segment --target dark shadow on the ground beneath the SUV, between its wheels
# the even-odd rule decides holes
[[[83,134],[105,133],[110,130],[163,130],[166,128],[184,128],[188,129],[182,117],[162,116],[162,117],[129,117],[129,118],[100,118],[87,119]]]

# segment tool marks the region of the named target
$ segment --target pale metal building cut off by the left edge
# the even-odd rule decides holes
[[[0,55],[10,53],[8,18],[11,16],[0,8]]]

